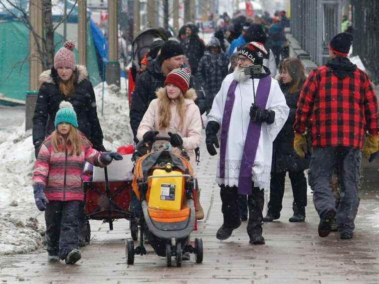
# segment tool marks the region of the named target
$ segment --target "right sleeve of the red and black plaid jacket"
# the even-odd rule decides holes
[[[365,118],[366,118],[366,129],[371,135],[377,134],[378,132],[378,101],[377,95],[375,94],[373,85],[369,77],[365,75]]]

